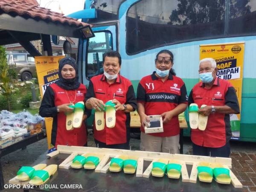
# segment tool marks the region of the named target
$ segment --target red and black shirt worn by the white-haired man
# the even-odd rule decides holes
[[[239,113],[239,103],[236,90],[229,81],[215,78],[210,89],[204,87],[204,83],[196,84],[189,94],[189,104],[223,106],[227,105]],[[208,116],[205,131],[191,130],[191,140],[196,145],[204,147],[222,147],[231,138],[230,116],[224,113],[211,113]]]

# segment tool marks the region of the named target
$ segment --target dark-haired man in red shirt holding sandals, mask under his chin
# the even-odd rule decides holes
[[[104,74],[90,80],[85,96],[87,109],[101,111],[102,105],[109,100],[116,104],[115,127],[105,125],[102,131],[97,131],[93,123],[95,143],[100,148],[129,149],[130,112],[137,108],[137,102],[131,81],[119,75],[121,61],[118,52],[106,52],[103,55]]]

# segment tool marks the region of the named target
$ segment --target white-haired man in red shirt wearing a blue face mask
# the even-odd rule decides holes
[[[193,154],[212,157],[229,157],[230,155],[230,115],[238,114],[239,102],[236,90],[229,81],[216,77],[218,68],[213,58],[204,58],[199,63],[201,81],[189,94],[189,105],[196,103],[206,107],[198,113],[208,116],[204,131],[191,130]]]

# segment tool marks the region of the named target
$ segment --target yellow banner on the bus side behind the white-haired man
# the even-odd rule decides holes
[[[217,76],[230,81],[236,89],[241,111],[244,42],[200,45],[200,60],[203,58],[215,59],[218,67]],[[232,139],[235,140],[239,140],[240,137],[240,117],[240,114],[230,114]]]

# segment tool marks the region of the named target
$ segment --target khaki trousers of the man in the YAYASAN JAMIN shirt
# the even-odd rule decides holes
[[[180,134],[171,137],[155,137],[141,132],[140,150],[179,154]]]

